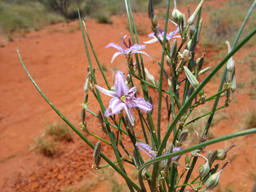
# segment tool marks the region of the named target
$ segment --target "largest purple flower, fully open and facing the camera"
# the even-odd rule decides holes
[[[134,94],[137,92],[137,87],[132,87],[129,89],[129,86],[125,84],[123,72],[117,71],[115,74],[115,91],[109,91],[98,85],[95,85],[96,89],[104,93],[105,95],[109,95],[113,97],[109,102],[109,107],[107,107],[105,111],[105,117],[109,115],[114,115],[115,113],[119,113],[122,109],[125,109],[127,113],[127,117],[131,122],[131,125],[134,125],[134,118],[131,113],[131,108],[139,107],[139,109],[143,109],[143,111],[151,111],[153,105],[151,103],[145,101],[142,97],[135,97]]]

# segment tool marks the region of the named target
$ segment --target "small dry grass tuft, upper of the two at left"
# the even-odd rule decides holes
[[[73,141],[71,137],[71,130],[66,123],[51,123],[47,126],[46,133],[51,135],[55,141]]]

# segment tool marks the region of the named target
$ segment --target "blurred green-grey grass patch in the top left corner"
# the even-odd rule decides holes
[[[64,20],[57,13],[47,11],[39,2],[6,2],[0,2],[0,33],[4,35],[27,33]]]

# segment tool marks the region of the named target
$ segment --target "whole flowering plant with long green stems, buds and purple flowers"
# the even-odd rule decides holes
[[[115,85],[113,87],[110,87],[109,82],[105,77],[105,73],[93,49],[89,33],[87,33],[85,23],[81,21],[79,15],[83,40],[89,62],[87,79],[84,87],[85,99],[81,105],[83,107],[81,110],[82,122],[79,123],[81,129],[85,131],[85,135],[83,135],[77,127],[71,124],[59,112],[59,110],[55,108],[49,99],[47,99],[41,89],[39,89],[31,75],[29,75],[18,50],[24,69],[27,71],[29,78],[31,78],[41,95],[49,105],[51,105],[61,119],[63,119],[63,121],[65,121],[71,129],[73,129],[75,133],[77,133],[79,137],[87,143],[87,145],[94,149],[93,158],[95,163],[93,165],[93,169],[103,169],[110,165],[121,175],[121,177],[125,179],[130,191],[177,190],[182,192],[206,191],[207,189],[213,189],[219,182],[221,172],[223,172],[224,167],[228,162],[226,162],[219,171],[219,164],[215,163],[216,161],[224,161],[227,152],[235,145],[232,145],[227,149],[217,149],[213,152],[206,151],[206,146],[226,139],[231,139],[233,137],[256,132],[256,129],[247,129],[246,131],[224,135],[223,137],[217,137],[211,140],[207,139],[207,133],[215,111],[228,107],[231,101],[233,101],[236,83],[235,65],[232,56],[247,41],[249,41],[253,35],[255,35],[256,29],[237,44],[241,31],[252,11],[252,9],[250,9],[247,15],[248,17],[246,17],[243,22],[232,48],[230,43],[227,41],[227,56],[218,65],[216,65],[213,70],[211,70],[211,73],[209,73],[203,81],[200,82],[198,78],[199,75],[209,70],[209,67],[203,69],[205,53],[203,53],[201,57],[197,59],[195,58],[195,50],[199,42],[202,27],[202,19],[200,17],[203,1],[204,0],[200,1],[189,19],[186,19],[185,14],[181,13],[177,9],[175,0],[172,18],[169,18],[169,0],[166,9],[165,29],[161,29],[157,23],[157,16],[154,13],[153,0],[149,0],[149,19],[151,19],[151,28],[153,29],[153,33],[151,33],[149,37],[153,37],[153,39],[145,41],[144,43],[153,43],[158,41],[162,45],[162,49],[159,53],[161,55],[161,61],[156,61],[156,63],[159,63],[160,65],[158,83],[155,83],[155,77],[151,75],[145,67],[145,65],[151,65],[151,63],[143,62],[141,53],[148,57],[149,55],[146,52],[141,51],[141,49],[145,49],[145,45],[139,44],[136,25],[129,0],[125,0],[125,5],[127,7],[131,39],[129,38],[128,44],[125,43],[125,37],[127,37],[125,35],[121,37],[121,46],[115,43],[109,43],[109,45],[107,45],[107,47],[114,47],[115,49],[118,49],[118,52],[113,54],[111,63],[114,61],[115,57],[121,54],[125,55],[125,59],[127,60],[127,70],[117,71],[115,73]],[[255,2],[252,7],[255,7]],[[171,33],[167,33],[169,19],[171,19],[171,22],[175,23],[176,26],[175,31]],[[135,37],[133,35],[133,30],[135,31]],[[177,33],[179,33],[179,35],[176,35]],[[175,37],[181,37],[181,42],[178,43],[177,39],[174,39]],[[94,66],[91,63],[91,57],[89,57],[89,46],[87,45],[87,41],[90,42],[93,54],[97,61],[99,70],[101,71],[101,75],[105,80],[107,89],[101,87],[102,85],[100,86],[97,84]],[[135,60],[135,63],[133,60]],[[225,63],[227,63],[227,65],[219,85],[219,90],[215,95],[207,97],[203,88],[217,73],[217,71],[225,65]],[[169,73],[165,71],[165,65],[166,67],[169,67]],[[127,77],[125,77],[125,74],[127,74]],[[167,81],[163,78],[164,75],[167,77]],[[136,79],[139,80],[141,88],[134,86],[133,82]],[[163,86],[164,84],[167,86]],[[183,87],[183,89],[181,89],[181,87]],[[137,97],[137,89],[141,89],[142,97]],[[149,92],[149,89],[151,89],[152,93]],[[183,93],[181,93],[181,90],[183,90]],[[91,111],[89,107],[88,91],[91,91],[93,96],[96,97],[97,102],[99,102],[101,109],[98,113]],[[153,93],[153,91],[155,92]],[[108,107],[103,103],[100,92],[111,97]],[[222,107],[217,108],[219,97],[221,97],[223,93],[225,93],[225,104]],[[230,98],[231,93],[232,97]],[[152,95],[155,98],[157,97],[157,99],[152,99]],[[158,100],[157,104],[153,103],[153,100]],[[196,109],[199,105],[203,105],[211,100],[214,100],[215,103],[211,113],[206,114],[209,115],[209,120],[207,125],[205,125],[203,135],[199,135],[197,132],[199,144],[187,148],[182,146],[190,134],[186,126],[205,115],[197,117],[197,119],[193,119],[190,122],[187,122],[187,118],[192,112],[197,111]],[[161,122],[163,101],[166,101],[166,110],[164,111],[164,113],[167,114],[166,129],[163,128],[164,123]],[[138,115],[133,115],[135,113],[133,113],[132,110],[137,111]],[[124,111],[125,113],[123,113]],[[99,119],[102,131],[107,134],[107,140],[90,132],[89,128],[87,128],[85,114],[91,114],[95,118]],[[152,115],[157,116],[156,122],[153,122]],[[125,129],[122,127],[125,127]],[[100,130],[98,130],[97,127],[95,129],[97,129],[97,131]],[[140,138],[137,137],[137,129],[141,129],[143,131],[143,136]],[[173,139],[170,137],[171,133],[173,133]],[[96,137],[99,139],[99,142],[96,145],[93,145],[93,143],[87,139],[86,134]],[[122,134],[127,135],[127,138],[130,139],[129,144],[124,145]],[[117,161],[111,161],[107,155],[102,153],[101,145],[110,145]],[[121,151],[121,149],[123,149],[124,152]],[[147,160],[147,157],[143,157],[143,153],[141,153],[141,151],[149,155],[150,159]],[[204,153],[208,153],[208,155],[202,155]],[[125,155],[127,158],[125,158]],[[101,158],[105,159],[108,164],[101,165]],[[197,176],[194,179],[191,179],[191,173],[198,158],[202,158],[205,163],[199,166]],[[125,171],[124,162],[135,166],[136,169],[139,170],[139,185],[135,183],[135,181],[133,181]],[[118,163],[119,166],[117,166],[116,163]],[[179,165],[179,167],[177,165]],[[152,168],[150,169],[150,167]],[[187,173],[187,175],[183,179],[185,173]],[[183,183],[181,183],[181,181],[183,181]],[[145,185],[146,183],[147,186]]]

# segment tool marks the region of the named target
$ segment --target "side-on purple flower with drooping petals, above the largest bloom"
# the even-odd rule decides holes
[[[115,49],[119,50],[113,55],[113,57],[111,59],[111,63],[113,63],[115,57],[117,57],[120,54],[124,54],[127,59],[131,58],[131,55],[133,55],[134,53],[143,53],[143,54],[147,55],[147,57],[149,57],[149,54],[147,54],[144,51],[141,51],[141,49],[145,49],[146,45],[137,45],[137,44],[133,45],[131,43],[130,38],[129,38],[129,45],[127,45],[127,43],[125,43],[125,37],[127,37],[127,35],[121,36],[121,41],[122,41],[121,46],[117,45],[115,43],[109,43],[109,45],[106,46],[106,48],[114,47]],[[123,45],[125,45],[125,48],[123,47]]]

